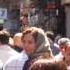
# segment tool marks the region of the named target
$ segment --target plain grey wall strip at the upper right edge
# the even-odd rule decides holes
[[[64,6],[66,14],[66,36],[70,38],[70,0],[61,0],[61,5]]]

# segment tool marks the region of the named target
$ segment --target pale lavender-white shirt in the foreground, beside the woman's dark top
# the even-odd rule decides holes
[[[28,56],[25,51],[17,55],[14,58],[11,58],[4,65],[3,70],[22,70],[25,62],[28,60]]]

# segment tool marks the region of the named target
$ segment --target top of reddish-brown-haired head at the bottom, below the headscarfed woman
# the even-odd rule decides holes
[[[29,68],[29,70],[67,70],[67,66],[64,62],[55,62],[53,60],[40,59],[35,61]]]

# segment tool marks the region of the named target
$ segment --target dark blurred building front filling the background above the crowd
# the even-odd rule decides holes
[[[66,1],[0,0],[0,8],[7,9],[7,19],[4,20],[3,28],[7,28],[11,33],[20,31],[20,15],[22,15],[20,12],[23,12],[23,14],[27,12],[30,26],[34,25],[32,22],[36,21],[35,26],[42,27],[45,31],[52,30],[56,34],[69,36],[69,4]],[[35,13],[34,10],[36,10]],[[32,11],[32,14],[30,14],[30,11]],[[37,18],[37,20],[31,21],[34,18]]]

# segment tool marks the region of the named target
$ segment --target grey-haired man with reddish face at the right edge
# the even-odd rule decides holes
[[[70,67],[70,39],[69,38],[61,38],[58,40],[58,44],[61,51],[61,56],[59,55],[59,60],[63,60]],[[56,56],[57,57],[57,56]]]

